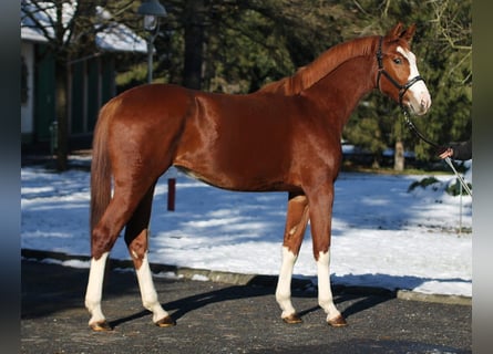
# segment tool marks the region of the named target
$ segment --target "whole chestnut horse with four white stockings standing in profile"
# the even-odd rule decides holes
[[[310,220],[318,303],[330,325],[346,325],[332,301],[329,272],[342,127],[373,88],[417,115],[428,111],[430,94],[409,44],[414,31],[414,25],[398,23],[386,37],[338,44],[292,76],[251,94],[151,84],[106,103],[94,132],[91,166],[90,326],[111,330],[101,309],[104,269],[124,227],[144,308],[156,325],[175,324],[158,302],[147,259],[154,187],[171,166],[224,189],[288,192],[276,290],[281,319],[301,321],[290,283]]]

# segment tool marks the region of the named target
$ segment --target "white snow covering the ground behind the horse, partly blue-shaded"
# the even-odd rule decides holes
[[[278,274],[287,195],[220,190],[172,170],[176,210],[167,211],[167,178],[156,186],[150,261],[198,269]],[[431,176],[431,175],[430,175]],[[472,198],[450,196],[450,175],[341,173],[336,183],[331,280],[335,284],[472,295]],[[471,169],[466,174],[471,180]],[[89,173],[21,170],[21,247],[90,254]],[[469,231],[458,232],[460,227]],[[130,259],[120,238],[112,258]],[[79,264],[79,267],[81,267]],[[83,267],[89,267],[86,262]],[[314,278],[307,230],[295,277]]]

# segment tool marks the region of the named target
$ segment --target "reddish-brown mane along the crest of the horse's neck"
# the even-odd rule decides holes
[[[363,56],[376,51],[379,37],[364,37],[337,44],[306,66],[301,66],[292,76],[287,76],[263,86],[259,92],[277,92],[296,95],[310,87],[340,64],[356,56]]]

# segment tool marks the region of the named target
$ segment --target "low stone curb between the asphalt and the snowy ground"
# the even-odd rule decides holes
[[[54,259],[59,261],[80,260],[90,261],[89,256],[72,256],[63,252],[40,251],[31,249],[21,249],[21,257],[28,260],[45,260]],[[277,275],[257,275],[257,274],[242,274],[225,271],[215,271],[206,269],[194,269],[187,267],[177,267],[160,263],[151,263],[151,270],[154,274],[173,273],[177,278],[187,280],[207,279],[213,282],[222,282],[235,285],[256,285],[265,288],[275,288],[277,285]],[[133,269],[131,260],[109,259],[109,269]],[[292,278],[291,288],[297,290],[307,290],[314,288],[310,279]],[[353,287],[333,284],[332,291],[338,294],[356,294],[356,295],[379,295],[388,298],[397,298],[401,300],[422,301],[432,303],[454,304],[454,305],[472,305],[472,298],[463,295],[444,295],[444,294],[427,294],[411,290],[389,290],[377,287]]]

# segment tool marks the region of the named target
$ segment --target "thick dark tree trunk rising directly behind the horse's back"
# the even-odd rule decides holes
[[[185,19],[185,64],[183,85],[188,88],[202,88],[202,64],[204,61],[204,0],[186,2]]]

